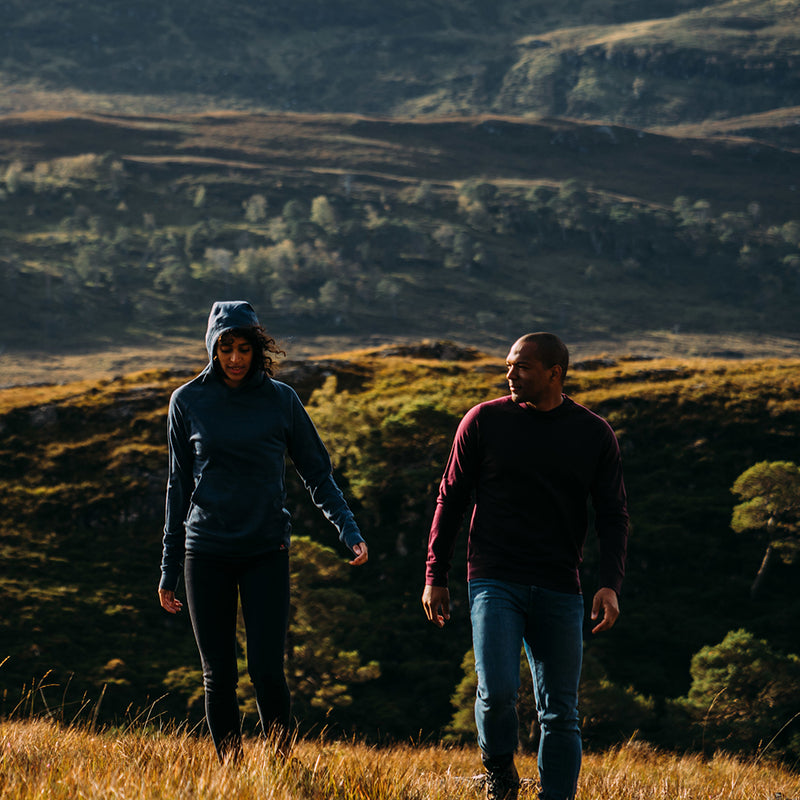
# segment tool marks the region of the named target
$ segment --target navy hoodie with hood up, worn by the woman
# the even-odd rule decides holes
[[[272,380],[260,365],[231,388],[214,368],[220,335],[258,324],[249,303],[214,303],[208,366],[170,398],[161,589],[174,591],[186,552],[247,558],[289,547],[287,453],[339,539],[351,549],[364,541],[294,389]]]

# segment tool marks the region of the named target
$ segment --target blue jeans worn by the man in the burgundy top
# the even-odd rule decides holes
[[[469,584],[478,692],[475,723],[484,758],[513,756],[524,645],[539,716],[541,800],[575,797],[581,767],[578,684],[583,596],[476,579]]]

